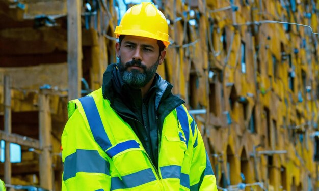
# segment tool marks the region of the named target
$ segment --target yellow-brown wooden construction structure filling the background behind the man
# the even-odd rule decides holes
[[[101,87],[117,61],[126,2],[0,0],[0,179],[9,190],[61,190],[67,101]],[[171,42],[157,72],[193,114],[219,190],[318,190],[319,1],[153,2]],[[10,143],[21,146],[18,163]]]

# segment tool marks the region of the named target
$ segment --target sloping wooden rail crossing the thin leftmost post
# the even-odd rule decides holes
[[[0,130],[0,139],[9,141],[11,143],[16,143],[23,146],[32,147],[35,149],[40,149],[40,143],[39,140],[18,135],[18,134],[8,134],[2,130]]]

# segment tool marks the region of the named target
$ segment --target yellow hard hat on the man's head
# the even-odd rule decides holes
[[[134,35],[157,39],[164,43],[165,48],[170,44],[166,18],[151,2],[142,2],[129,8],[114,34],[116,38],[120,35]]]

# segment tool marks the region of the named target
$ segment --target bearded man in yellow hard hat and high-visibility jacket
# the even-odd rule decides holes
[[[194,119],[155,73],[169,45],[165,16],[143,2],[115,34],[119,63],[68,104],[63,190],[217,190]]]

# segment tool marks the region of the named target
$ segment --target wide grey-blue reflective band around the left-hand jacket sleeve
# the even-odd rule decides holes
[[[110,175],[110,164],[99,155],[97,150],[77,149],[64,161],[63,181],[75,177],[78,172],[103,173]]]

